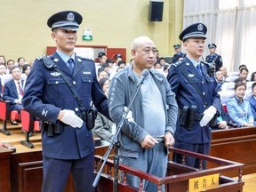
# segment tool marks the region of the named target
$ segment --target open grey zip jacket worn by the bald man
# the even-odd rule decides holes
[[[162,94],[166,115],[165,132],[168,131],[174,133],[176,130],[178,113],[175,94],[171,91],[171,86],[163,75],[154,70],[149,70],[149,72]],[[116,129],[124,114],[124,106],[128,107],[137,83],[138,80],[132,72],[132,66],[118,72],[111,80],[108,94],[108,108],[111,118],[116,123]],[[153,96],[152,99],[154,99]],[[120,156],[138,157],[142,150],[140,143],[148,135],[148,132],[143,128],[144,115],[141,100],[141,92],[138,92],[131,107],[134,121],[129,122],[128,120],[125,120],[122,131],[119,134],[119,141],[121,144],[119,148]]]

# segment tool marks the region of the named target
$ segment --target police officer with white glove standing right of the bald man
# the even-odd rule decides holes
[[[167,79],[176,93],[180,110],[174,147],[208,155],[211,144],[209,122],[220,112],[220,96],[215,89],[214,76],[208,75],[209,66],[199,60],[204,52],[206,31],[203,23],[196,23],[180,33],[187,56],[172,64]],[[181,163],[182,156],[175,154],[173,160]],[[195,157],[186,156],[185,161],[188,166],[200,166]],[[205,162],[203,166],[206,167]]]

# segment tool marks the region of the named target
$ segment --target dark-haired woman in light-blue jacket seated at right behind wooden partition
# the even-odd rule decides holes
[[[244,100],[246,84],[236,82],[235,97],[228,100],[228,116],[231,123],[237,127],[253,127],[254,117],[252,115],[251,105],[248,100]]]

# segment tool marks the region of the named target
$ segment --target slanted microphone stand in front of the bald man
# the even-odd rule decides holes
[[[144,69],[145,70],[145,69]],[[119,132],[121,131],[123,125],[124,125],[124,121],[128,115],[128,112],[130,111],[131,107],[132,107],[132,103],[134,102],[138,92],[140,91],[140,86],[143,84],[144,78],[148,76],[148,71],[147,73],[145,73],[145,75],[143,76],[143,72],[142,72],[142,76],[140,77],[140,81],[139,83],[136,85],[136,89],[132,94],[132,99],[126,109],[126,111],[124,112],[124,115],[122,116],[121,121],[119,122],[119,124],[116,127],[116,133],[114,135],[114,138],[112,139],[109,147],[108,147],[108,151],[106,152],[106,154],[102,157],[102,159],[104,159],[103,163],[101,164],[100,167],[100,171],[97,173],[93,183],[92,183],[92,187],[96,187],[98,185],[98,182],[100,180],[100,174],[108,160],[108,156],[110,155],[110,152],[112,150],[112,148],[115,148],[115,157],[114,157],[114,169],[115,169],[115,177],[114,177],[114,186],[113,186],[113,191],[114,192],[118,192],[118,169],[119,169],[119,155],[118,155],[118,148],[120,147],[120,142],[118,140],[118,135]]]

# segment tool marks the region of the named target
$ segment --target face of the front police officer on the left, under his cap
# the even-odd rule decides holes
[[[56,28],[52,31],[52,39],[56,42],[57,49],[68,55],[74,52],[77,34],[73,30]]]

